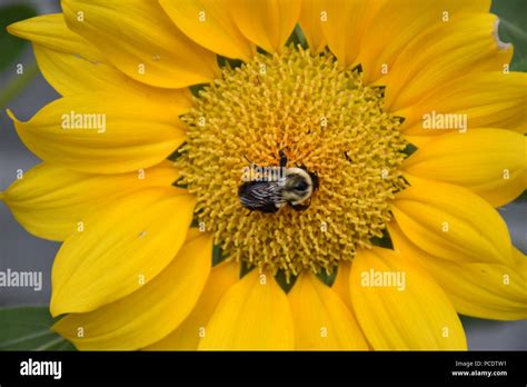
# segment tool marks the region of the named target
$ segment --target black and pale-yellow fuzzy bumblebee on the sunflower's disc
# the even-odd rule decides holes
[[[284,173],[279,178],[246,181],[238,188],[241,206],[251,210],[275,214],[288,205],[297,211],[309,208],[311,195],[319,188],[318,176],[305,166],[287,168],[287,157],[279,151]],[[253,166],[251,163],[251,166]],[[278,175],[278,173],[277,173]]]

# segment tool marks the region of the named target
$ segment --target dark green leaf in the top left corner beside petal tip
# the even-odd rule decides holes
[[[36,14],[37,11],[27,4],[12,4],[0,8],[0,47],[2,48],[0,71],[7,70],[14,63],[28,44],[27,41],[9,34],[6,27],[16,21],[32,18]]]

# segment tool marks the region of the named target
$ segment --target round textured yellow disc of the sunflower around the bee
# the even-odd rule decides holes
[[[382,106],[382,90],[341,70],[330,52],[286,48],[225,67],[182,118],[188,140],[177,166],[201,226],[229,259],[288,279],[350,261],[382,237],[389,199],[405,187],[398,167],[407,142]],[[319,187],[302,201],[307,209],[290,200],[276,212],[250,211],[239,198],[247,169],[278,167],[280,151],[286,169],[301,166]]]

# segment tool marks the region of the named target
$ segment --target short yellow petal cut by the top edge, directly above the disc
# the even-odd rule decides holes
[[[231,14],[241,33],[251,42],[268,52],[281,51],[300,16],[300,1],[239,1]]]

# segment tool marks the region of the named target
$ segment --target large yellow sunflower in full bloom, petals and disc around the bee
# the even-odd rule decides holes
[[[79,349],[466,349],[527,317],[495,210],[526,188],[527,77],[487,0],[62,0],[9,27],[62,98],[2,200],[62,241]],[[240,204],[301,167],[304,210]],[[312,181],[311,181],[312,183]]]

